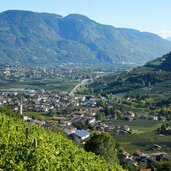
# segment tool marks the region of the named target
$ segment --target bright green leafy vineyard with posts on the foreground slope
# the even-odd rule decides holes
[[[123,170],[60,134],[0,113],[0,170]]]

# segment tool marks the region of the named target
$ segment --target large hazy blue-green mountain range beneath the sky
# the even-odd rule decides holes
[[[142,65],[171,50],[147,32],[99,24],[86,16],[9,10],[0,13],[0,63]]]

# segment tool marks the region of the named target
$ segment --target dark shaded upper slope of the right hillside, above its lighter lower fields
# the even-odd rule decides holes
[[[157,86],[158,84],[171,80],[171,53],[164,55],[154,61],[147,63],[143,67],[135,68],[117,75],[110,75],[102,78],[103,84],[92,84],[96,90],[103,89],[113,94],[129,92],[148,86]]]

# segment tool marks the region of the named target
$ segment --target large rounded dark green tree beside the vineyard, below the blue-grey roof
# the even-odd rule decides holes
[[[108,162],[118,162],[115,152],[115,141],[109,133],[94,133],[86,142],[85,150],[100,155]]]

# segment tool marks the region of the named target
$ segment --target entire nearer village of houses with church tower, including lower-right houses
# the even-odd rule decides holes
[[[52,123],[57,124],[76,144],[84,145],[96,131],[109,132],[114,136],[131,135],[134,130],[129,123],[136,119],[135,113],[125,112],[122,120],[128,124],[111,124],[110,121],[117,120],[118,116],[116,114],[104,115],[104,108],[100,105],[100,101],[101,98],[96,96],[76,95],[64,91],[14,88],[0,90],[0,105],[12,106],[13,111],[19,113],[24,121],[45,129],[50,129]],[[103,98],[103,101],[107,102],[107,99]],[[112,111],[114,106],[109,104],[108,109]],[[155,116],[146,118],[146,120],[149,119],[154,122],[158,121]],[[146,145],[146,149],[153,151],[151,153],[135,150],[131,154],[126,150],[118,150],[118,155],[123,166],[150,168],[152,167],[150,163],[153,161],[170,160],[170,156],[162,152],[162,148],[159,144],[151,143]]]

